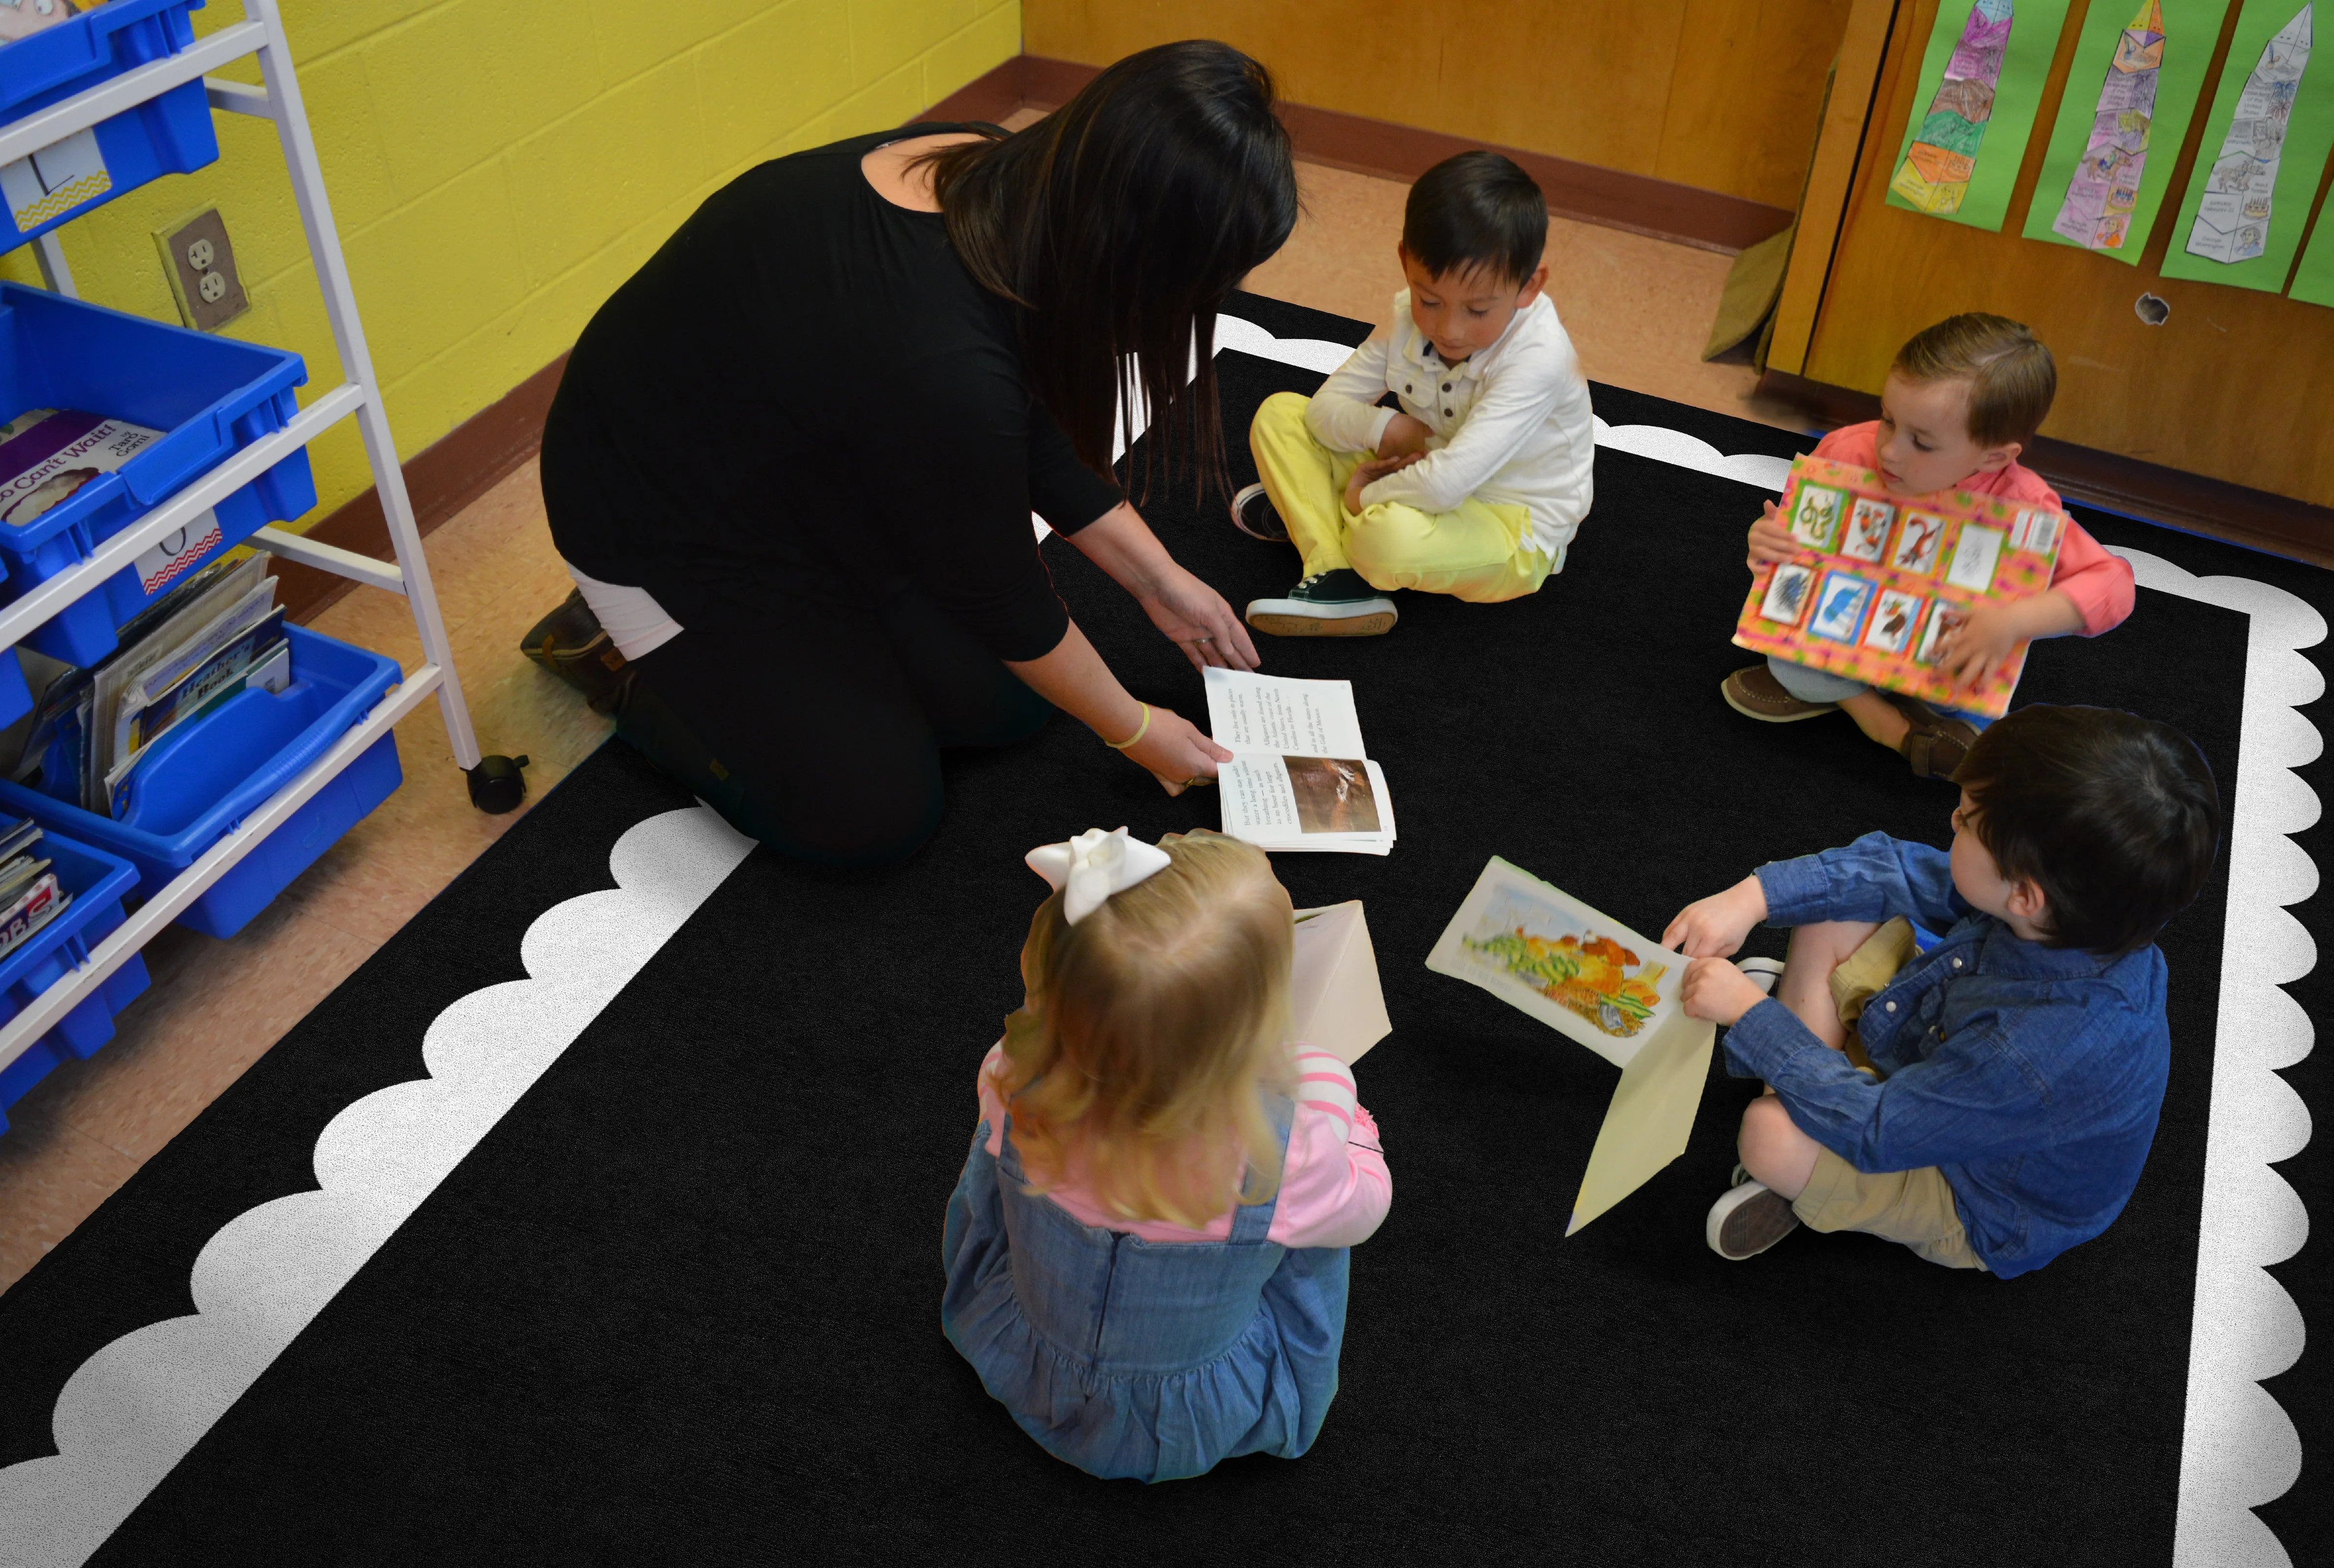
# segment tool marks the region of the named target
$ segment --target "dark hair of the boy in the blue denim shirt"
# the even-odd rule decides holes
[[[2047,947],[2145,947],[2213,875],[2220,789],[2168,723],[2021,707],[1970,744],[1954,782],[2003,877],[2042,889]]]

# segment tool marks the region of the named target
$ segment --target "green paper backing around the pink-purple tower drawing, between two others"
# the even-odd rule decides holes
[[[2138,180],[2140,198],[2131,208],[2124,243],[2084,245],[2059,233],[2054,224],[2066,210],[2075,166],[2082,163],[2091,145],[2091,124],[2110,82],[2115,51],[2124,42],[2124,30],[2147,16],[2147,0],[2091,0],[2091,9],[2082,19],[2075,63],[2068,68],[2066,93],[2059,98],[2059,124],[2052,126],[2042,177],[2035,182],[2035,198],[2026,210],[2024,233],[2028,240],[2089,250],[2124,266],[2138,266],[2140,252],[2147,250],[2147,233],[2157,224],[2157,212],[2164,210],[2173,166],[2180,163],[2180,140],[2187,135],[2189,119],[2196,117],[2203,72],[2213,63],[2213,47],[2220,42],[2220,23],[2229,14],[2229,0],[2157,0],[2157,7],[2164,21],[2164,56],[2157,68],[2157,103],[2147,126],[2147,159]]]

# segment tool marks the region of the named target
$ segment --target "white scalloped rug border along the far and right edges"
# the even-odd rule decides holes
[[[1230,315],[1216,317],[1216,345],[1323,376],[1354,352],[1321,338],[1274,338]],[[1776,492],[1790,476],[1788,457],[1729,457],[1662,425],[1596,420],[1596,446]],[[2297,709],[2325,693],[2325,677],[2301,649],[2325,642],[2327,623],[2269,583],[2192,576],[2145,551],[2117,555],[2131,562],[2143,588],[2220,604],[2250,621],[2173,1563],[2290,1568],[2292,1556],[2252,1510],[2301,1475],[2301,1435],[2262,1379],[2292,1367],[2306,1335],[2294,1297],[2266,1269],[2308,1239],[2308,1211],[2271,1164],[2311,1141],[2308,1106],[2278,1069],[2311,1052],[2313,1029],[2301,1003],[2280,987],[2318,961],[2308,931],[2285,910],[2318,891],[2318,868],[2292,833],[2318,821],[2318,793],[2294,770],[2313,763],[2322,747],[2318,728]]]

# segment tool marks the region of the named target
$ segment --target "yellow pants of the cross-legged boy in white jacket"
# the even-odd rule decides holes
[[[1249,450],[1265,495],[1305,555],[1305,576],[1351,567],[1382,593],[1417,588],[1473,604],[1538,593],[1557,562],[1524,544],[1531,513],[1468,497],[1454,511],[1379,502],[1344,509],[1344,481],[1363,453],[1333,453],[1305,425],[1300,392],[1274,392],[1256,411]]]

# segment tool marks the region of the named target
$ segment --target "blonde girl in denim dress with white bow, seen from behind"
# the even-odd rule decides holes
[[[1337,1393],[1347,1248],[1393,1185],[1351,1069],[1288,1043],[1288,894],[1216,833],[1029,863],[1055,894],[980,1064],[941,1328],[1092,1475],[1295,1458]]]

